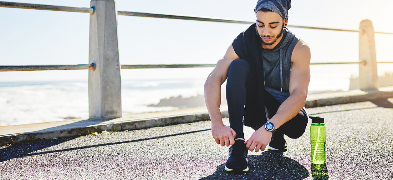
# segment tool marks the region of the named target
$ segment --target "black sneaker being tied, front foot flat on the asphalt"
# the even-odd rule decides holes
[[[229,147],[229,157],[225,164],[225,171],[234,173],[246,173],[248,149],[244,140],[235,140],[235,144]]]

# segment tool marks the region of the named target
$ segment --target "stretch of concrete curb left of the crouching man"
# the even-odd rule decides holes
[[[221,112],[223,117],[228,117],[228,111]],[[165,118],[152,118],[149,120],[130,120],[127,122],[101,123],[86,127],[75,127],[71,129],[61,129],[55,131],[21,133],[8,136],[0,136],[0,146],[14,144],[18,142],[29,142],[35,140],[49,140],[53,138],[66,138],[73,136],[88,135],[89,133],[101,133],[102,131],[125,131],[134,129],[146,129],[172,124],[190,123],[210,120],[208,113],[193,115],[171,116]]]

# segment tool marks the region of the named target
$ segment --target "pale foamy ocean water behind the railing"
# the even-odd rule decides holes
[[[357,68],[353,64],[312,65],[309,94],[347,91],[349,78],[358,74]],[[203,86],[211,70],[212,68],[121,70],[123,115],[204,105]],[[45,78],[29,81],[0,80],[0,126],[88,118],[87,78],[83,76],[80,79],[60,81]],[[224,92],[225,83],[222,85],[223,99]],[[168,100],[172,102],[168,103]]]

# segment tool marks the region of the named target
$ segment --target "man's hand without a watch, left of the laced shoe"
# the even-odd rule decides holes
[[[220,125],[212,125],[211,126],[211,135],[213,135],[214,140],[217,144],[221,146],[229,146],[235,144],[235,136],[236,133],[232,128],[220,124]]]

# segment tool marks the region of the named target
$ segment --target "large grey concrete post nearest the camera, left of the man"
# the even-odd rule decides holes
[[[121,117],[121,81],[119,65],[117,10],[114,0],[92,0],[90,15],[89,118]]]

